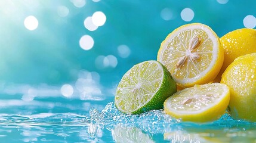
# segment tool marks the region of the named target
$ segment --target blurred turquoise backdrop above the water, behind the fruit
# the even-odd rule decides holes
[[[80,6],[77,7],[79,2]],[[220,4],[223,2],[226,4]],[[96,94],[113,100],[122,75],[134,64],[156,60],[161,42],[172,30],[187,23],[203,23],[212,27],[221,37],[227,32],[245,27],[245,17],[256,15],[255,5],[256,1],[234,0],[2,0],[0,93],[4,95],[0,98],[10,94],[21,97],[33,92],[37,94],[32,97],[61,97],[61,87],[68,84],[73,88],[69,98],[82,99],[79,94],[83,89],[79,90],[76,83],[81,77],[87,78],[86,75],[81,76],[86,74],[85,71],[94,73],[91,74],[92,80],[100,91]],[[64,16],[59,13],[60,7],[68,11]],[[191,21],[181,18],[181,11],[185,8],[190,8],[194,13]],[[167,10],[165,16],[164,10]],[[96,11],[106,15],[106,22],[90,31],[85,28],[84,20]],[[24,26],[24,20],[29,15],[38,20],[35,30]],[[255,17],[251,23],[255,23]],[[79,45],[84,35],[90,35],[94,40],[89,50]],[[128,57],[122,58],[119,54],[120,45],[128,47]],[[97,58],[108,55],[114,57],[116,63],[104,67],[103,60],[97,61]],[[91,82],[81,84],[83,88],[93,85]],[[33,89],[33,92],[29,89]]]

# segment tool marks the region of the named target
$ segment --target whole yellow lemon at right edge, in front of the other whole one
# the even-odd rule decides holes
[[[233,119],[256,122],[256,53],[236,58],[224,71],[221,83],[230,88]]]

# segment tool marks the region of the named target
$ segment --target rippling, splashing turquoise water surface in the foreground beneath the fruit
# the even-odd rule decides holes
[[[227,114],[200,125],[172,119],[162,110],[127,115],[113,102],[85,114],[0,114],[1,141],[10,142],[255,142],[255,129],[255,123]]]

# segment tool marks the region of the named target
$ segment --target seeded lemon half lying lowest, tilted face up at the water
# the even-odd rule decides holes
[[[223,83],[195,85],[166,99],[164,111],[183,121],[210,122],[225,113],[229,99],[229,87]]]

